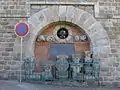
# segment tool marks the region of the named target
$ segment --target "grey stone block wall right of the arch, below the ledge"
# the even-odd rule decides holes
[[[106,29],[111,43],[111,54],[109,55],[108,60],[106,60],[104,63],[106,64],[106,67],[102,68],[102,80],[104,82],[113,82],[113,85],[120,85],[116,84],[116,82],[119,82],[119,76],[120,76],[120,19],[97,19],[99,20],[104,28]],[[110,78],[111,77],[111,78]],[[107,84],[108,84],[107,83]]]

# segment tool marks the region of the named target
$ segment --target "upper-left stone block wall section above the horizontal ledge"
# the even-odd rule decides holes
[[[21,1],[0,1],[1,6],[1,10],[3,10],[4,12],[0,12],[0,16],[1,17],[24,17],[24,16],[28,16],[28,9],[27,6],[29,6],[28,4],[26,4],[27,0],[21,0]],[[16,5],[16,6],[15,6]]]

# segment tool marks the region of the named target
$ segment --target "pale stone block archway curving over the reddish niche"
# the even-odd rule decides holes
[[[107,32],[100,22],[84,10],[73,6],[50,6],[35,13],[31,16],[31,20],[30,38],[25,52],[28,57],[34,57],[34,45],[38,33],[48,24],[58,21],[71,22],[81,27],[91,39],[91,50],[97,58],[111,52]]]

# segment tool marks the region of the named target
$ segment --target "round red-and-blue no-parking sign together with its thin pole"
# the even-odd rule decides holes
[[[20,52],[21,52],[21,58],[20,58],[20,83],[22,82],[22,61],[23,61],[23,37],[25,37],[28,34],[28,24],[25,22],[20,22],[18,24],[16,24],[15,26],[15,34],[20,37],[21,39],[21,48],[20,48]]]

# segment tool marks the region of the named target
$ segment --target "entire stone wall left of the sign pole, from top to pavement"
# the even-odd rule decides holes
[[[29,0],[0,0],[0,77],[17,76],[20,71],[20,38],[15,24],[29,17]],[[17,48],[16,48],[16,41]],[[16,50],[15,50],[16,49]]]

